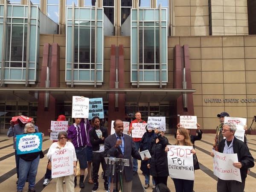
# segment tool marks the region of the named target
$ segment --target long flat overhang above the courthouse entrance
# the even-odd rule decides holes
[[[0,87],[0,101],[37,102],[38,93],[49,93],[57,102],[72,101],[72,96],[102,97],[108,101],[110,94],[125,94],[125,102],[171,102],[183,93],[194,92],[195,89]]]

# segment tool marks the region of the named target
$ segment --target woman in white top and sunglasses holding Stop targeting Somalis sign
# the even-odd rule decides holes
[[[74,192],[74,177],[76,175],[76,151],[74,145],[67,141],[67,132],[61,131],[58,134],[58,142],[52,143],[52,145],[49,148],[49,151],[47,153],[47,158],[51,160],[52,154],[55,153],[55,151],[60,150],[61,148],[67,148],[72,151],[73,153],[73,168],[74,173],[73,175],[67,175],[64,177],[57,177],[56,182],[56,192],[64,192],[64,183],[63,179],[65,178],[65,185],[66,185],[66,192]]]

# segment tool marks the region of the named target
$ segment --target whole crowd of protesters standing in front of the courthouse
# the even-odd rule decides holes
[[[237,191],[243,192],[245,186],[245,178],[251,167],[254,166],[253,157],[247,147],[247,139],[244,136],[244,142],[236,139],[236,125],[232,123],[224,123],[224,117],[229,116],[227,112],[222,112],[217,115],[220,121],[216,129],[216,136],[213,143],[213,150],[227,154],[237,154],[238,162],[234,162],[233,166],[240,169],[241,180],[221,180],[218,178],[217,191]],[[135,113],[135,118],[131,124],[128,134],[132,135],[134,130],[133,123],[146,123],[141,119],[141,113]],[[65,121],[64,115],[58,116],[57,121]],[[15,162],[17,171],[17,192],[22,192],[26,181],[29,183],[29,192],[35,192],[35,177],[39,159],[44,156],[42,151],[37,151],[27,154],[17,154],[16,138],[20,134],[32,134],[38,132],[38,127],[35,122],[10,122],[11,127],[7,132],[8,137],[13,137],[15,149]],[[142,138],[133,138],[128,134],[123,134],[124,124],[122,120],[116,119],[113,122],[115,133],[108,135],[108,129],[101,125],[101,119],[94,116],[91,122],[88,119],[74,118],[74,123],[68,127],[67,132],[61,131],[58,133],[58,140],[54,140],[49,147],[47,158],[47,170],[44,179],[44,186],[47,186],[51,180],[51,160],[55,151],[63,148],[72,151],[73,173],[66,176],[57,177],[56,191],[64,192],[64,184],[67,192],[74,192],[77,185],[77,162],[79,162],[80,176],[79,187],[84,188],[85,169],[88,172],[88,183],[93,184],[92,192],[99,189],[99,167],[102,166],[102,178],[104,180],[103,188],[106,192],[117,192],[121,189],[122,192],[131,192],[132,180],[137,174],[138,163],[141,160],[140,170],[145,177],[144,188],[150,186],[150,175],[152,176],[153,192],[169,192],[167,187],[167,178],[169,176],[167,153],[169,148],[168,139],[164,136],[165,132],[157,129],[148,130],[145,128],[145,133]],[[190,151],[193,154],[194,170],[200,169],[198,158],[195,152],[195,141],[201,140],[201,126],[197,123],[197,135],[191,135],[190,130],[177,124],[175,133],[176,142],[173,145],[191,146]],[[247,126],[244,126],[247,129]],[[52,131],[48,129],[48,132]],[[42,134],[44,137],[44,134]],[[225,137],[225,138],[224,138]],[[151,158],[140,156],[139,151],[148,150]],[[213,151],[210,151],[212,157],[215,156]],[[118,166],[112,166],[111,163],[106,163],[105,157],[118,158]],[[128,166],[124,166],[121,159],[128,160]],[[113,160],[113,159],[112,159]],[[112,170],[118,170],[112,172]],[[92,170],[92,175],[91,175]],[[112,174],[113,173],[113,174]],[[117,174],[117,175],[116,175]],[[116,180],[117,179],[117,180]],[[186,180],[180,178],[172,178],[176,192],[192,192],[194,180]],[[116,185],[114,183],[117,183]]]

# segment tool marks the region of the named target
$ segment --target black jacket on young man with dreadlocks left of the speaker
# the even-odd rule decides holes
[[[102,137],[104,137],[104,140],[99,138],[96,134],[95,128],[93,127],[90,132],[90,143],[93,146],[93,151],[99,150],[99,144],[104,144],[105,139],[108,137],[108,129],[105,127],[100,126],[99,129],[102,131]]]

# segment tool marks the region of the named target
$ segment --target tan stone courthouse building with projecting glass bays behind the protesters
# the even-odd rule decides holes
[[[165,116],[167,133],[180,115],[213,133],[222,111],[249,127],[255,10],[254,0],[0,0],[0,133],[21,114],[44,133],[59,114],[72,123],[72,96],[102,97],[108,122]]]

